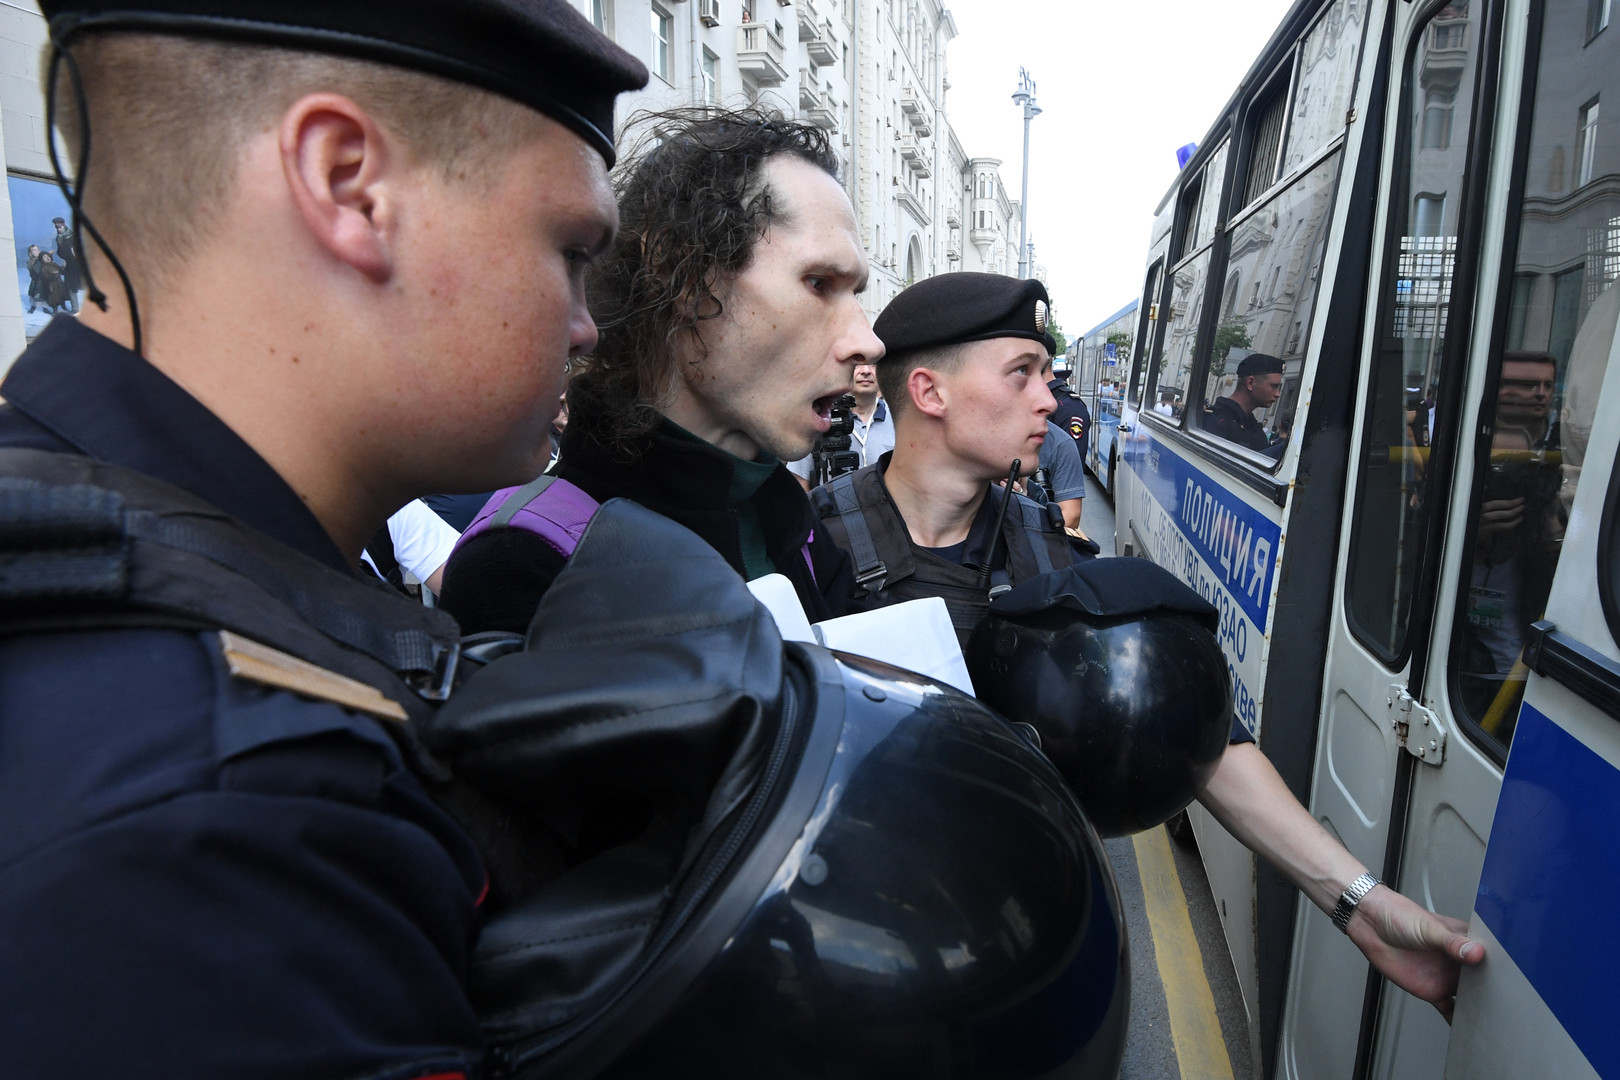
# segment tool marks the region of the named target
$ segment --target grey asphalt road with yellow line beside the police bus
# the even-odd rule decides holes
[[[1113,507],[1090,474],[1085,478],[1085,489],[1081,529],[1102,546],[1103,555],[1111,555],[1115,551]],[[1166,997],[1166,980],[1178,978],[1183,984],[1200,980],[1209,984],[1215,1017],[1220,1023],[1220,1038],[1226,1048],[1230,1075],[1234,1080],[1256,1077],[1243,993],[1238,989],[1238,976],[1233,973],[1231,957],[1226,952],[1220,916],[1215,912],[1209,879],[1204,876],[1204,865],[1199,861],[1196,848],[1174,842],[1168,845],[1174,861],[1174,879],[1179,882],[1179,894],[1186,904],[1192,936],[1197,939],[1199,955],[1181,955],[1166,949],[1171,955],[1162,957],[1155,947],[1155,933],[1149,920],[1137,844],[1128,837],[1106,840],[1105,845],[1119,882],[1126,908],[1126,931],[1131,941],[1131,1033],[1126,1043],[1124,1067],[1119,1074],[1121,1080],[1181,1077],[1213,1080],[1221,1075],[1218,1070],[1212,1075],[1202,1059],[1199,1064],[1189,1061],[1187,1067],[1183,1067],[1178,1059],[1176,1031],[1171,1025],[1170,999]],[[1183,1031],[1183,1044],[1191,1046],[1194,1035]]]

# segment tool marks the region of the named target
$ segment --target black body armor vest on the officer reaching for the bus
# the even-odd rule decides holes
[[[1001,487],[990,487],[996,508],[1006,494]],[[964,643],[985,617],[991,593],[1000,594],[1003,586],[1014,586],[1076,562],[1068,534],[1051,518],[1056,507],[1043,507],[1019,494],[1013,494],[1013,499],[1001,526],[1006,563],[990,575],[987,588],[982,568],[959,567],[912,544],[906,521],[883,489],[876,465],[839,476],[813,494],[821,523],[855,562],[855,610],[938,596]]]

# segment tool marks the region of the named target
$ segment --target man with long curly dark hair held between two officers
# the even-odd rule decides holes
[[[782,466],[883,355],[826,134],[679,112],[651,117],[645,144],[617,176],[619,238],[588,283],[601,338],[569,385],[554,474],[685,525],[748,580],[786,575],[812,619],[842,614],[849,562]],[[473,531],[441,602],[468,633],[523,631],[564,562],[536,533]]]

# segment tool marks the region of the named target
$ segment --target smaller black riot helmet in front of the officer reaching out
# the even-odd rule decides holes
[[[998,597],[969,638],[974,687],[1029,724],[1103,836],[1191,803],[1231,733],[1217,612],[1145,559],[1094,559]]]

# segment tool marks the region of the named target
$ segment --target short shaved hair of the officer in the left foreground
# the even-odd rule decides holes
[[[274,131],[306,94],[348,97],[413,164],[439,164],[447,183],[491,180],[504,154],[544,123],[489,91],[347,57],[131,32],[89,34],[70,52],[92,136],[91,175],[78,176],[84,212],[146,288],[164,287],[212,236],[248,139]],[[58,66],[55,120],[78,175],[79,112],[66,68]],[[81,244],[89,254],[92,244]]]

